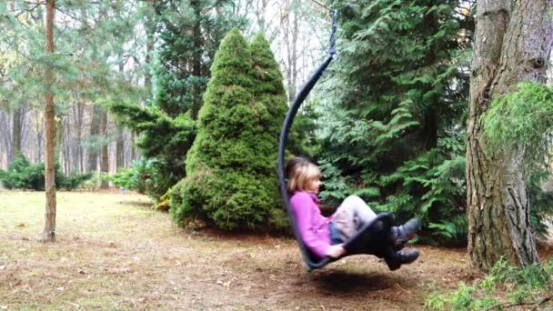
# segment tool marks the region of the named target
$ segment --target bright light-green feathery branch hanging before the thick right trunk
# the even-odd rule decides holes
[[[528,173],[548,168],[553,134],[553,87],[523,82],[492,101],[483,115],[491,150],[524,150]]]

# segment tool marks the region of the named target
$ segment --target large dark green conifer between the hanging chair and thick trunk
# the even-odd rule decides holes
[[[361,0],[344,10],[321,98],[321,196],[418,216],[464,240],[469,36],[460,1]],[[359,61],[363,60],[363,61]],[[328,200],[327,200],[328,199]]]

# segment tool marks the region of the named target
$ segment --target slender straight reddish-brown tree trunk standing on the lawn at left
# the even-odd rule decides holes
[[[46,52],[54,53],[54,14],[55,0],[46,0]],[[46,87],[51,87],[53,74],[48,69],[45,74]],[[45,193],[46,193],[46,215],[45,231],[43,240],[55,242],[55,107],[54,95],[48,91],[45,95],[45,127],[46,127],[46,153],[45,153]]]

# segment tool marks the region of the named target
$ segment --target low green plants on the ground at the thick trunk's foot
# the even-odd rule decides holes
[[[538,306],[553,290],[553,260],[519,268],[509,266],[507,260],[501,258],[478,284],[460,283],[451,292],[433,287],[425,305],[432,310],[502,310],[509,306]]]

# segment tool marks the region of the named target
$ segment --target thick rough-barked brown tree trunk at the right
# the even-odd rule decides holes
[[[545,82],[553,40],[548,15],[552,6],[553,0],[478,1],[469,96],[467,196],[470,265],[482,271],[488,271],[500,256],[517,266],[538,262],[522,169],[524,150],[490,150],[481,116],[495,96],[512,91],[519,82]]]

